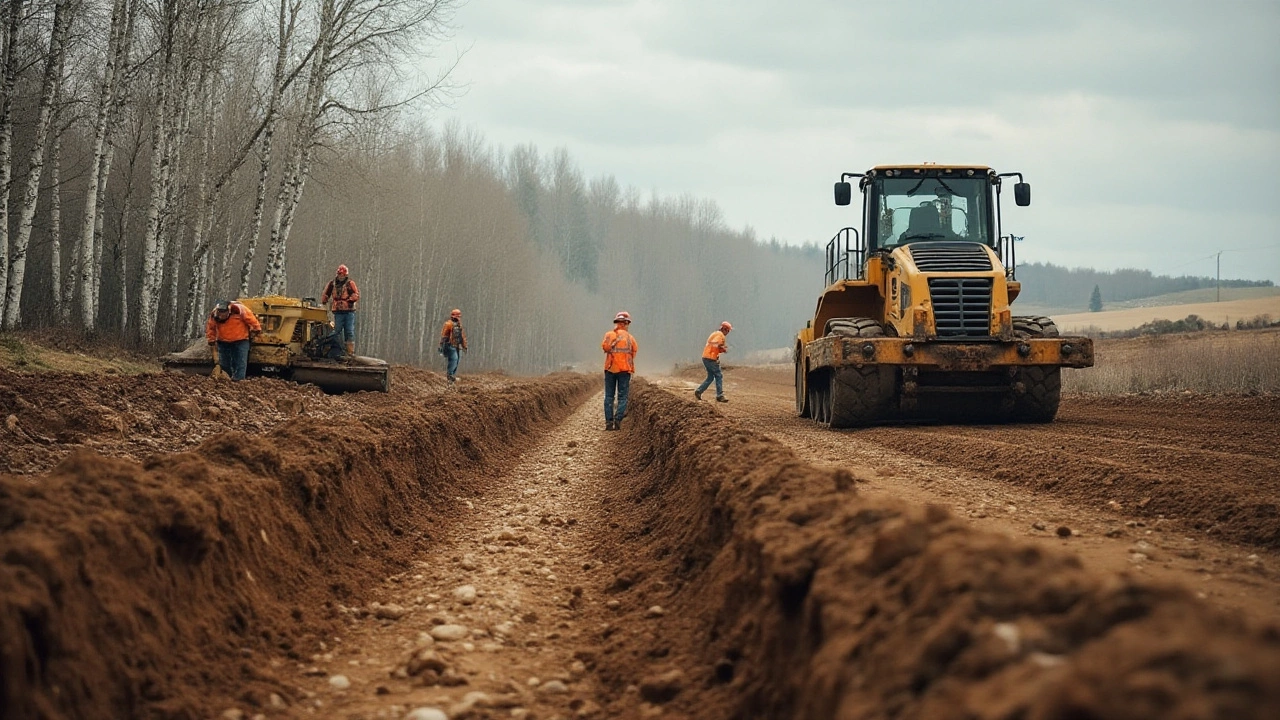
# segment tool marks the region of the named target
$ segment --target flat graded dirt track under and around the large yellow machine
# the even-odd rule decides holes
[[[1277,525],[1267,507],[1280,498],[1280,448],[1258,439],[1280,424],[1277,398],[1068,397],[1048,425],[829,430],[795,416],[790,369],[735,368],[726,380],[731,402],[718,411],[809,461],[850,469],[868,495],[943,503],[977,527],[1070,550],[1092,568],[1280,619],[1280,553],[1260,547]],[[692,387],[687,377],[662,382],[677,393]],[[1107,442],[1112,436],[1125,442]],[[1206,448],[1239,455],[1224,460]],[[1146,497],[1153,500],[1142,506]],[[1222,515],[1251,505],[1258,523]],[[1199,515],[1166,516],[1170,507]],[[1196,518],[1215,516],[1235,534],[1196,527]],[[1057,537],[1059,528],[1070,536]],[[1222,542],[1233,537],[1253,544]]]

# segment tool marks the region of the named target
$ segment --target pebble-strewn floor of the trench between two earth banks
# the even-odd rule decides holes
[[[611,698],[589,666],[612,619],[600,588],[616,559],[593,538],[608,533],[598,498],[626,433],[602,430],[599,400],[460,497],[466,516],[388,578],[378,605],[344,609],[347,632],[297,666],[314,693],[297,716],[317,705],[352,719],[605,716]],[[349,688],[330,684],[339,674]]]

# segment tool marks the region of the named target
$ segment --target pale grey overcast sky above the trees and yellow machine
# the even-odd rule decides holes
[[[1021,261],[1280,282],[1280,0],[468,0],[445,118],[733,228],[856,224],[841,170],[1019,170]]]

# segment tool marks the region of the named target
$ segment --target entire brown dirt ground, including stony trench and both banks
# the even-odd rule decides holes
[[[833,433],[765,368],[605,433],[594,377],[402,375],[0,375],[6,716],[1280,712],[1272,400]]]

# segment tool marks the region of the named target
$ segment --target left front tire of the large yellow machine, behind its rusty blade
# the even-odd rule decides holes
[[[827,334],[841,337],[884,337],[884,328],[870,318],[832,318]],[[810,375],[810,382],[817,378]],[[828,372],[823,387],[824,418],[832,428],[858,428],[888,419],[896,393],[893,368],[864,365]]]

